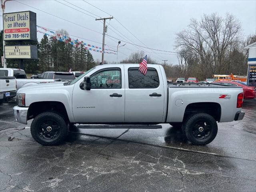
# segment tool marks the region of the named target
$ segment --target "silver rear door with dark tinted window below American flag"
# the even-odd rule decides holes
[[[164,85],[160,67],[148,68],[146,75],[136,67],[124,65],[125,122],[162,122]]]

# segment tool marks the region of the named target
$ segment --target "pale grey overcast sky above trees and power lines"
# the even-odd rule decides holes
[[[60,0],[58,0],[60,1]],[[102,46],[102,30],[103,24],[100,21],[95,21],[84,13],[78,12],[80,10],[85,12],[91,12],[100,17],[109,17],[108,14],[94,8],[82,0],[68,1],[82,9],[79,9],[68,2],[60,1],[63,4],[67,4],[77,10],[69,8],[63,4],[60,4],[54,0],[20,0],[24,4],[28,4],[34,8],[46,11],[54,14],[58,17],[64,18],[70,22],[79,24],[72,24],[70,22],[61,20],[34,8],[20,4],[17,1],[6,2],[5,12],[18,12],[27,11],[36,12],[37,25],[50,28],[52,30],[65,29],[73,36],[78,36],[78,40],[82,38],[84,42]],[[243,35],[247,36],[256,32],[256,0],[229,0],[229,1],[87,1],[90,4],[100,8],[101,10],[111,14],[120,23],[122,23],[132,34],[134,34],[139,40],[137,40],[132,34],[130,34],[117,20],[110,20],[110,25],[107,34],[120,38],[120,40],[128,40],[128,42],[134,42],[135,44],[146,44],[148,48],[154,48],[159,50],[174,51],[176,33],[186,29],[189,24],[190,18],[200,19],[203,14],[211,14],[217,12],[220,16],[225,16],[227,12],[234,14],[242,23]],[[88,13],[87,14],[90,14]],[[2,12],[1,12],[2,15]],[[91,14],[90,14],[91,15]],[[93,16],[96,17],[96,16]],[[2,19],[1,29],[2,29]],[[107,23],[109,20],[107,21]],[[92,30],[88,30],[86,28]],[[114,30],[114,33],[110,28],[115,28],[121,32],[125,37],[118,36],[118,32]],[[97,33],[99,32],[99,33]],[[38,33],[38,41],[42,38],[42,34]],[[94,42],[93,42],[94,41]],[[96,43],[99,42],[99,43]],[[101,43],[100,43],[101,42]],[[144,44],[142,44],[142,42]],[[106,37],[105,48],[115,49],[118,44],[118,40],[110,39]],[[121,45],[124,44],[123,42]],[[140,50],[136,46],[126,44],[119,48],[118,60],[122,60],[128,57],[132,51]],[[144,48],[143,48],[144,49]],[[152,50],[144,49],[145,54],[151,56],[154,60],[162,62],[161,60],[168,60],[168,63],[177,64],[178,60],[176,54],[161,54],[163,52],[153,53]],[[101,60],[101,54],[98,52],[91,52],[94,56],[94,60]],[[105,60],[112,62],[116,61],[116,55],[105,54]]]

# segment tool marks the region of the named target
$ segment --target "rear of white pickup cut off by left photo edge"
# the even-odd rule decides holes
[[[8,100],[16,96],[15,77],[0,76],[0,104],[3,100]]]

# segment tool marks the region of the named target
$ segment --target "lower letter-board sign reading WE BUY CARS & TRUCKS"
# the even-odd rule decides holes
[[[4,46],[6,59],[37,59],[35,45]]]

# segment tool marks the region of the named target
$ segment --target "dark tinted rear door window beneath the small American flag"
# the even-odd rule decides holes
[[[139,68],[128,69],[129,88],[157,88],[159,86],[159,78],[156,69],[148,68],[146,75],[139,71]]]

